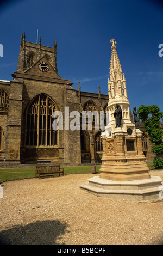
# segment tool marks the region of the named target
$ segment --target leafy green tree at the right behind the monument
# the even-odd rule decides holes
[[[141,105],[137,113],[139,119],[145,124],[145,131],[148,132],[150,141],[155,144],[152,147],[152,152],[156,154],[153,164],[155,168],[163,167],[163,131],[160,129],[160,118],[163,117],[163,112],[156,105]]]

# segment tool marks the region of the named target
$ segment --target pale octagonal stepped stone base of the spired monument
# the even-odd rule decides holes
[[[131,181],[113,181],[95,176],[81,185],[87,192],[98,197],[108,197],[131,201],[157,201],[162,191],[162,180],[159,176],[149,179]]]

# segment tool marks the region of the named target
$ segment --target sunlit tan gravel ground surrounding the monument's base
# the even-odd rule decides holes
[[[163,180],[163,171],[150,174]],[[163,245],[163,202],[101,198],[79,188],[95,175],[71,174],[1,184],[1,243]]]

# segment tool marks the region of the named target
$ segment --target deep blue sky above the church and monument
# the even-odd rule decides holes
[[[0,79],[12,80],[21,33],[26,41],[53,47],[58,74],[84,92],[108,93],[110,40],[125,74],[130,108],[156,104],[163,111],[163,4],[152,0],[23,0],[0,3]]]

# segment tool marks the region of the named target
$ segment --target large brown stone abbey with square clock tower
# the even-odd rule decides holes
[[[17,71],[12,81],[0,80],[0,166],[19,166],[51,160],[61,165],[101,163],[101,130],[53,129],[54,111],[104,111],[108,95],[82,92],[62,79],[57,69],[57,43],[54,47],[34,44],[21,36]],[[130,111],[131,113],[131,111]],[[130,114],[133,120],[132,114]],[[82,119],[81,119],[82,120]],[[71,121],[71,118],[70,118]],[[82,121],[81,121],[82,127]],[[143,131],[143,124],[140,124]],[[147,161],[154,154],[147,133],[143,132]]]

